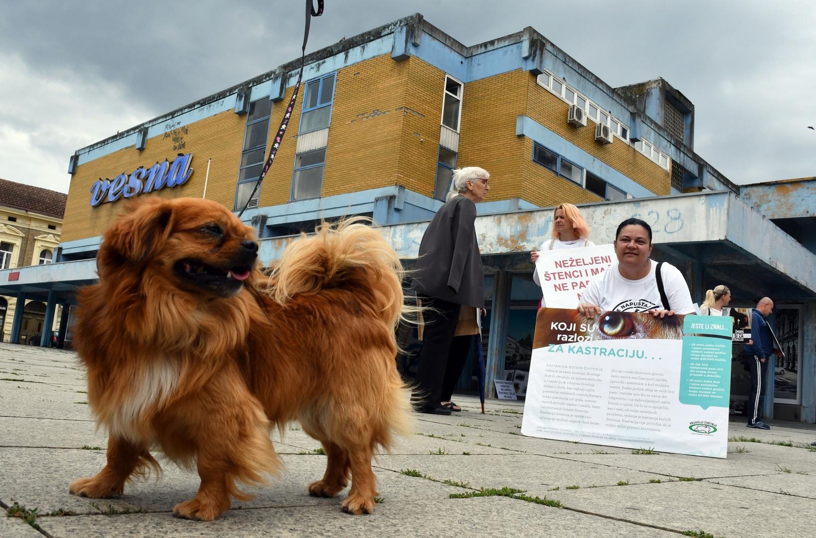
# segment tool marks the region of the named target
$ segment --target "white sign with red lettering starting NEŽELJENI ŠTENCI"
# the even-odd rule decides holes
[[[574,309],[579,305],[583,290],[596,274],[609,269],[615,260],[614,247],[561,248],[539,251],[535,270],[544,296],[544,305],[556,309]]]

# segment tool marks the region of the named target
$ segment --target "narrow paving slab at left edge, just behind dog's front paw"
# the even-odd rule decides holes
[[[55,420],[29,417],[0,417],[0,446],[3,447],[107,447],[108,436],[95,431],[91,420]]]

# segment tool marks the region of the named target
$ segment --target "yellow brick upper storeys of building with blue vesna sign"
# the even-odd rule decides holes
[[[700,173],[690,144],[693,105],[679,92],[662,80],[653,81],[657,97],[653,83],[607,87],[532,29],[465,47],[417,15],[305,63],[286,136],[243,217],[262,238],[349,212],[384,224],[430,218],[457,166],[484,167],[494,178],[480,213],[688,192],[720,180]],[[125,198],[144,196],[150,168],[161,176],[164,162],[171,168],[187,158],[192,172],[181,185],[166,178],[151,190],[157,196],[242,209],[298,67],[291,62],[79,149],[69,165],[60,259],[92,256],[126,211]],[[655,103],[672,109],[674,124],[650,117]],[[576,108],[579,121],[570,123]],[[133,181],[138,189],[128,187]]]

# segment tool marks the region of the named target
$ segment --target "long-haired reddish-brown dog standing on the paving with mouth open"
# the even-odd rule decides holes
[[[327,456],[309,493],[335,496],[350,475],[344,511],[373,511],[372,454],[411,431],[395,363],[397,253],[353,222],[291,243],[268,279],[257,251],[251,227],[193,198],[136,202],[104,234],[74,342],[108,461],[72,493],[122,494],[160,472],[157,447],[201,478],[174,514],[211,520],[230,496],[250,498],[236,481],[277,474],[270,429],[299,420]]]

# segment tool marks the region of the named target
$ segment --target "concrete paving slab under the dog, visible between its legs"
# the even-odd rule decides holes
[[[439,456],[443,457],[443,456]],[[326,469],[325,456],[282,455],[285,468],[280,478],[272,478],[268,487],[242,487],[257,497],[249,501],[233,501],[233,506],[268,508],[287,505],[329,504],[339,510],[348,488],[335,499],[309,496],[309,482],[321,478]],[[159,460],[163,475],[137,480],[125,486],[125,493],[115,499],[87,499],[69,494],[69,482],[76,478],[91,477],[105,464],[104,451],[54,450],[37,448],[0,449],[0,500],[7,505],[15,501],[41,513],[56,509],[72,510],[78,514],[96,514],[100,510],[171,510],[183,500],[192,499],[200,480],[194,472],[180,469],[175,464]],[[387,500],[406,500],[420,496],[447,498],[460,487],[408,477],[389,469],[375,467],[379,496]],[[94,506],[95,505],[95,506]]]

